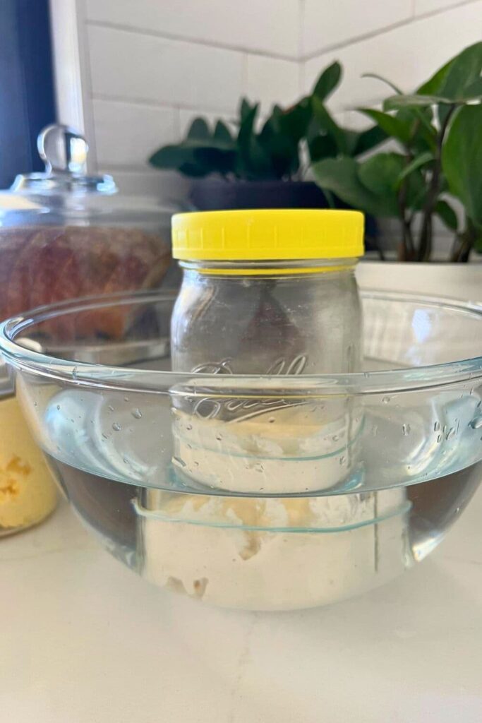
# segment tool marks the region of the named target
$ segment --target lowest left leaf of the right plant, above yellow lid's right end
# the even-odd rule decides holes
[[[326,158],[312,166],[322,189],[335,193],[345,203],[375,216],[397,215],[397,210],[363,186],[358,178],[358,163],[353,158]]]

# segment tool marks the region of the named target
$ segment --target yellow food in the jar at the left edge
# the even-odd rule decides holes
[[[0,535],[30,527],[56,505],[56,487],[17,400],[0,400]]]

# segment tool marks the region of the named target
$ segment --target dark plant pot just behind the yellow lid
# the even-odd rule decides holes
[[[200,211],[244,208],[330,208],[327,197],[314,181],[223,181],[197,179],[189,194]],[[350,208],[334,197],[335,208]],[[378,250],[378,228],[373,216],[366,216],[366,249]]]

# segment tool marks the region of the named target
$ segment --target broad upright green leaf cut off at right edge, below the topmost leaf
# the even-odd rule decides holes
[[[442,148],[442,168],[450,191],[469,218],[482,223],[482,105],[457,111]]]

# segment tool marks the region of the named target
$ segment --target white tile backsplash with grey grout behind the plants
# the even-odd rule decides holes
[[[262,102],[261,122],[272,103],[293,102],[339,59],[344,77],[330,106],[340,123],[361,129],[370,121],[350,109],[376,106],[390,92],[361,79],[363,72],[378,72],[412,90],[482,37],[482,0],[51,3],[63,27],[74,7],[72,28],[77,23],[85,53],[71,48],[69,62],[79,64],[77,74],[69,72],[61,54],[56,59],[56,76],[64,83],[57,93],[59,117],[77,120],[78,103],[69,99],[79,97],[72,78],[81,78],[100,171],[113,174],[124,193],[155,196],[165,205],[186,199],[189,179],[155,171],[146,158],[184,135],[194,117],[205,116],[210,124],[218,117],[230,121],[239,98],[248,95]],[[72,33],[65,37],[75,45]],[[385,238],[399,236],[395,222],[384,230]],[[449,247],[444,228],[437,238]]]

